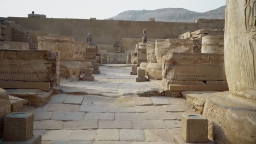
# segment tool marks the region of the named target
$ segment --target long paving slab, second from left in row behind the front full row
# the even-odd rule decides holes
[[[97,120],[81,120],[81,121],[69,121],[63,122],[63,129],[97,129]]]

